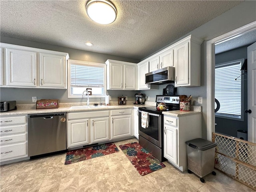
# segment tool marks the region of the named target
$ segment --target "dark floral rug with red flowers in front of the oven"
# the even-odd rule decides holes
[[[162,162],[137,142],[120,145],[119,147],[141,176],[165,167]]]

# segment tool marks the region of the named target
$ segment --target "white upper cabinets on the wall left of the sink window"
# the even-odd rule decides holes
[[[66,89],[68,53],[1,43],[2,87]]]

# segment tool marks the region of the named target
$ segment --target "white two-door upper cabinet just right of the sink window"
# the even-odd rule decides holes
[[[136,64],[107,60],[106,65],[108,90],[136,89]]]

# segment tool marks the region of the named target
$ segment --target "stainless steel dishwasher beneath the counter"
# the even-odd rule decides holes
[[[28,156],[67,149],[66,112],[28,114]]]

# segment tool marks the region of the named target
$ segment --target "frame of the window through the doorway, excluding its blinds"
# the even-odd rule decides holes
[[[235,64],[239,64],[241,63],[241,67],[242,65],[244,64],[244,58],[242,59],[238,59],[238,60],[233,60],[233,61],[228,61],[228,62],[224,62],[224,63],[220,63],[220,64],[216,64],[215,65],[215,68],[220,68],[221,66],[222,67],[225,67],[225,66],[230,66],[230,65],[235,65]],[[241,74],[242,74],[242,70],[241,71]],[[220,114],[218,112],[215,113],[215,117],[217,118],[224,118],[224,119],[231,119],[231,120],[238,120],[238,121],[244,121],[244,86],[245,86],[245,78],[243,75],[240,76],[240,78],[238,78],[238,80],[241,81],[241,116],[235,116],[235,115],[230,115],[230,114]],[[215,92],[215,90],[214,90]],[[215,95],[215,94],[214,94]]]

